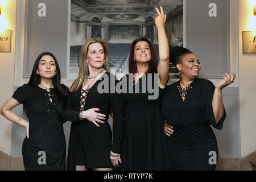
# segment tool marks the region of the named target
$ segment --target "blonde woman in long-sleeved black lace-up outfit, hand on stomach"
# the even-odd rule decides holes
[[[68,170],[112,170],[112,166],[122,163],[123,102],[121,94],[110,92],[110,77],[114,75],[107,72],[108,61],[109,51],[104,40],[93,38],[82,46],[79,76],[71,86],[67,110],[62,115],[72,122]],[[102,79],[108,84],[104,85],[108,90],[103,93]],[[113,142],[108,123],[110,107],[114,115]]]

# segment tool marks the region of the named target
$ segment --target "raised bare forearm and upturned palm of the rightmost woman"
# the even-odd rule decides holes
[[[222,89],[234,81],[236,74],[232,73],[232,76],[230,78],[230,75],[225,73],[223,77],[223,80],[218,82],[218,84],[216,85],[212,99],[212,107],[216,123],[218,123],[221,120],[224,114],[224,106],[222,102]]]

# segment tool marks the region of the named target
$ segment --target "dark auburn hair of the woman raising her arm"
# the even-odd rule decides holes
[[[130,49],[130,55],[129,55],[129,73],[133,73],[133,74],[137,73],[137,67],[135,66],[136,63],[134,63],[134,49],[135,49],[135,45],[141,41],[147,42],[148,46],[150,47],[151,60],[148,63],[149,65],[148,65],[147,73],[153,73],[158,67],[158,57],[156,56],[156,52],[153,44],[147,38],[135,39],[133,43],[131,43],[131,49]]]

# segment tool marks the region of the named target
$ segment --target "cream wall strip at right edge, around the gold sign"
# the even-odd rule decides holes
[[[242,53],[242,31],[256,31],[255,0],[239,0],[239,82],[241,157],[256,150],[256,54]]]

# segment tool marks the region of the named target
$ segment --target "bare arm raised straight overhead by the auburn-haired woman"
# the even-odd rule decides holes
[[[169,76],[169,44],[167,40],[164,23],[166,23],[166,14],[163,12],[163,7],[160,6],[160,11],[156,8],[158,16],[155,17],[155,25],[158,28],[158,49],[159,49],[159,86],[166,87],[166,82]]]

